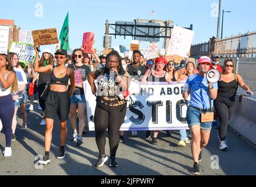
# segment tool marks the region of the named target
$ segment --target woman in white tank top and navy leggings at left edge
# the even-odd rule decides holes
[[[14,102],[11,93],[18,90],[16,73],[8,56],[0,54],[0,131],[5,133],[6,147],[4,157],[12,155],[12,117],[14,115]]]

